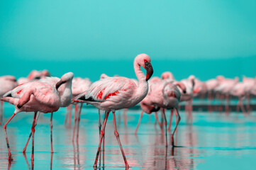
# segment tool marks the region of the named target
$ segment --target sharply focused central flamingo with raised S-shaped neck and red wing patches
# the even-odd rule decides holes
[[[94,82],[87,91],[77,96],[76,101],[84,101],[87,104],[91,104],[96,108],[99,108],[101,111],[106,111],[104,123],[101,127],[101,137],[99,139],[99,147],[96,153],[94,167],[97,166],[106,121],[110,112],[113,113],[114,135],[116,136],[116,140],[118,141],[123,154],[123,160],[126,167],[129,167],[116,129],[116,111],[122,108],[131,108],[135,106],[148,94],[148,79],[150,79],[153,74],[150,62],[150,57],[146,54],[140,54],[135,57],[133,67],[139,81],[138,86],[135,85],[133,80],[126,77],[107,77]],[[146,69],[146,76],[141,71],[140,67]]]

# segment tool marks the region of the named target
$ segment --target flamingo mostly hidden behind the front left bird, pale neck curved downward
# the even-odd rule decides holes
[[[61,78],[58,77],[46,77],[45,79],[40,79],[40,82],[51,84],[52,86],[56,86],[56,89],[58,91],[58,94],[60,96],[60,107],[67,107],[69,106],[71,99],[72,99],[72,79],[74,77],[74,74],[72,72],[68,72],[64,74]],[[39,114],[35,118],[35,126],[37,125]],[[52,123],[50,124],[52,129]],[[23,153],[26,152],[26,149],[28,147],[28,142],[30,141],[30,137],[32,135],[32,132],[30,132],[30,135],[28,137],[28,140],[26,142],[25,147],[23,148]],[[52,139],[52,137],[51,137]],[[53,153],[53,149],[51,150]]]

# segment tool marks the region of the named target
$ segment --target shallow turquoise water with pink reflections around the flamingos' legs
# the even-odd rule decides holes
[[[6,105],[4,123],[11,117],[13,106]],[[193,124],[186,123],[187,115],[180,112],[175,144],[165,147],[165,136],[155,125],[153,115],[143,115],[134,135],[140,111],[128,110],[128,125],[123,113],[116,113],[118,132],[130,169],[255,169],[256,167],[256,114],[246,118],[242,113],[194,112]],[[121,115],[121,116],[119,116]],[[64,125],[65,109],[53,115],[53,149],[50,153],[50,114],[40,115],[35,128],[34,169],[93,169],[99,143],[98,111],[82,109],[79,141],[72,144],[73,128]],[[169,111],[167,111],[169,121]],[[33,121],[33,113],[18,113],[7,126],[13,162],[9,164],[4,130],[0,128],[0,169],[31,169],[31,145],[26,155],[26,144]],[[73,120],[72,120],[73,125]],[[173,128],[172,128],[173,129]],[[123,157],[113,135],[113,117],[106,123],[104,169],[125,169]],[[170,146],[170,138],[168,134]],[[101,166],[102,166],[101,160]],[[103,169],[101,167],[101,169]]]

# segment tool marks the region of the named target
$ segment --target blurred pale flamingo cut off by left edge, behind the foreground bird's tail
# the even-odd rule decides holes
[[[4,96],[8,91],[12,90],[18,84],[16,82],[15,77],[13,76],[3,76],[0,77],[0,98]],[[2,124],[4,117],[4,101],[0,103],[0,125]]]

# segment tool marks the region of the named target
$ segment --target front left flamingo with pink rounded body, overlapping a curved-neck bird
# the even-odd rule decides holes
[[[32,125],[32,154],[31,159],[34,159],[34,133],[35,133],[35,118],[38,111],[43,113],[53,113],[60,108],[60,96],[52,84],[47,84],[42,81],[33,81],[27,84],[17,86],[12,91],[7,92],[1,101],[6,101],[15,106],[15,111],[11,118],[4,124],[4,132],[6,135],[6,143],[9,152],[9,160],[12,160],[11,149],[7,137],[6,126],[12,118],[19,112],[35,112]],[[50,118],[52,125],[52,115]],[[52,132],[52,126],[50,126]],[[51,135],[52,137],[52,135]],[[51,138],[52,142],[52,138]]]

